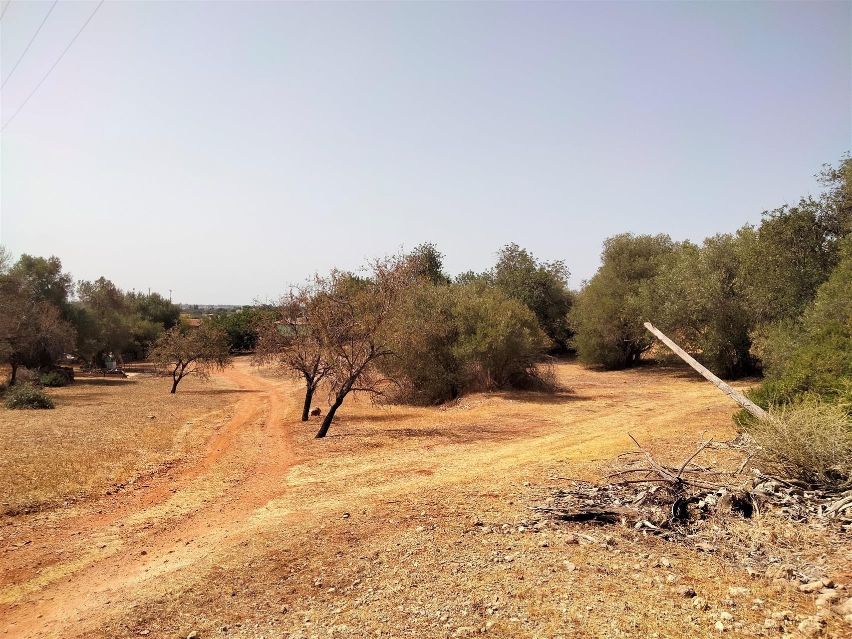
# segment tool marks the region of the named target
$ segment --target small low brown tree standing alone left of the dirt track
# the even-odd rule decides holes
[[[227,333],[210,324],[202,324],[195,330],[173,326],[159,338],[148,357],[158,366],[160,374],[171,376],[172,393],[187,375],[206,379],[210,371],[231,366]]]

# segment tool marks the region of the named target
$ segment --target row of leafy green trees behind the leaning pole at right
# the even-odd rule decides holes
[[[653,346],[642,327],[650,320],[722,377],[763,371],[755,397],[764,405],[843,395],[838,380],[852,377],[844,337],[852,326],[852,159],[817,179],[819,197],[700,245],[667,235],[607,239],[602,267],[569,314],[579,360],[636,365]]]

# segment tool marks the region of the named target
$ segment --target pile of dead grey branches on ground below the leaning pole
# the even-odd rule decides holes
[[[561,521],[630,526],[665,538],[699,538],[726,516],[748,519],[773,509],[795,521],[821,521],[852,530],[852,490],[812,486],[803,481],[746,474],[751,457],[738,469],[702,466],[698,450],[677,467],[653,458],[630,435],[637,450],[619,455],[620,465],[599,484],[570,480],[570,488],[550,490],[528,506]],[[560,478],[565,479],[565,478]],[[696,544],[713,550],[709,544]]]

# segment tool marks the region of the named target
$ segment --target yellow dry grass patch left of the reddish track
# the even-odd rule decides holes
[[[229,388],[187,378],[169,389],[162,378],[78,379],[46,389],[54,410],[0,406],[0,515],[104,492],[184,457],[216,426],[210,413],[227,406]]]

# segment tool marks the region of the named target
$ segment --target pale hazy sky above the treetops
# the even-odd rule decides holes
[[[852,147],[849,2],[107,1],[60,60],[97,3],[51,4],[0,20],[0,243],[176,302],[425,241],[579,287],[608,236],[759,222]]]

